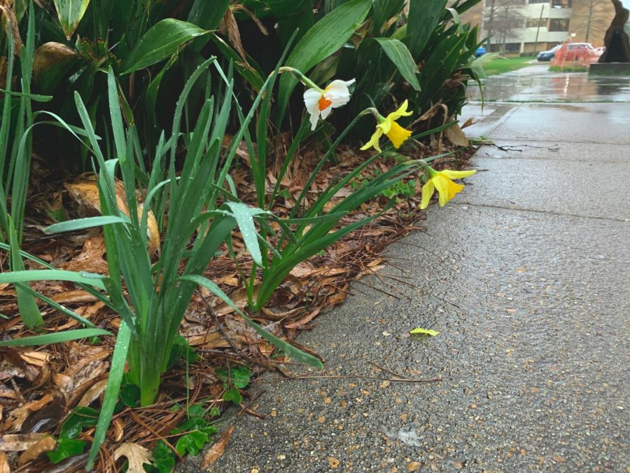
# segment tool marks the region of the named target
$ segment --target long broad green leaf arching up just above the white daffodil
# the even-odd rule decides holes
[[[302,36],[286,59],[286,66],[295,67],[304,74],[326,57],[337,52],[365,20],[373,0],[350,0],[335,8],[315,23]],[[279,120],[284,117],[286,105],[297,79],[282,74],[278,91]]]

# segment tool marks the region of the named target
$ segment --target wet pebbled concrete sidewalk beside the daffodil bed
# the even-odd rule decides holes
[[[466,116],[477,174],[300,336],[325,371],[254,383],[266,418],[210,471],[628,471],[630,106]]]

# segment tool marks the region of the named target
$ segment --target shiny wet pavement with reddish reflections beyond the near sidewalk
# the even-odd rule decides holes
[[[630,76],[589,76],[585,72],[549,72],[549,63],[482,79],[484,99],[510,102],[630,102]],[[477,86],[470,100],[481,100]]]

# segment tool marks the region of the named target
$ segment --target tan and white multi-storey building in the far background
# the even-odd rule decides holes
[[[489,51],[531,54],[565,41],[603,46],[614,16],[610,0],[483,0],[462,20],[492,36]]]

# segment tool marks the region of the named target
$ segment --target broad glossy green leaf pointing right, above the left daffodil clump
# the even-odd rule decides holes
[[[185,21],[174,18],[161,20],[140,38],[125,57],[121,74],[129,74],[160,62],[177,53],[191,39],[207,33],[206,29]]]

